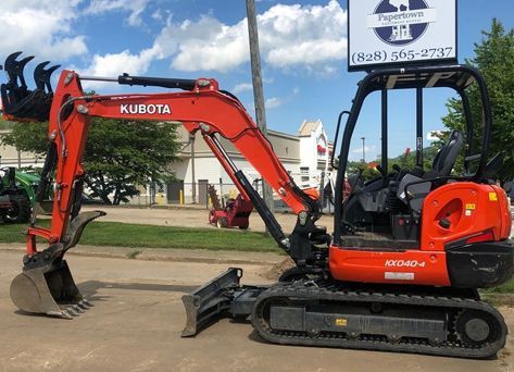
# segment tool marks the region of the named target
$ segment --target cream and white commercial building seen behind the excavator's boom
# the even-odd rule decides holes
[[[236,186],[201,135],[197,134],[195,137],[193,151],[191,151],[189,134],[184,128],[179,128],[178,133],[184,147],[179,153],[180,161],[171,164],[178,181],[168,184],[166,189],[162,190],[166,194],[167,201],[179,202],[181,195],[183,201],[186,203],[192,201],[205,203],[208,184],[215,185],[218,194],[237,195]],[[328,141],[319,120],[304,121],[297,136],[267,131],[267,137],[278,159],[300,188],[319,187],[322,172],[327,174],[330,171],[329,152],[331,151],[331,144]],[[230,159],[250,182],[261,178],[260,174],[228,140],[221,138],[221,142]]]

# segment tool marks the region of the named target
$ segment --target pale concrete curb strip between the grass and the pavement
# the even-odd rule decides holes
[[[25,251],[22,246],[0,244],[0,251],[15,251],[20,256]],[[130,248],[130,247],[96,247],[78,246],[72,248],[66,255],[93,258],[115,258],[141,261],[171,261],[196,262],[217,264],[251,264],[271,265],[286,259],[274,252],[241,252],[241,251],[211,251],[203,249],[175,249],[175,248]],[[130,257],[134,256],[134,257]]]

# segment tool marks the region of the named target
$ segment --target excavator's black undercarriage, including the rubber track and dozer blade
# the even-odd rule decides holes
[[[505,345],[506,325],[476,290],[355,285],[303,278],[240,285],[228,269],[183,301],[195,336],[213,318],[250,319],[275,344],[488,358]]]

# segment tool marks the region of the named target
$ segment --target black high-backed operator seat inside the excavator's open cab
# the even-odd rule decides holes
[[[453,131],[448,141],[437,152],[431,164],[431,170],[424,173],[421,177],[414,174],[406,174],[400,182],[397,190],[397,197],[405,204],[409,204],[405,195],[405,186],[416,183],[409,187],[410,207],[415,212],[421,212],[423,200],[430,193],[432,186],[436,186],[434,178],[447,177],[455,165],[456,158],[464,145],[464,136],[460,131]],[[423,182],[427,179],[427,182]]]

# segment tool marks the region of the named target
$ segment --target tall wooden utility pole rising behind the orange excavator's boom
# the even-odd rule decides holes
[[[254,0],[247,0],[247,20],[248,37],[250,41],[250,62],[252,66],[253,100],[255,102],[255,120],[256,125],[261,129],[264,137],[267,137],[266,113],[264,110],[264,92],[262,88],[261,57],[259,52],[259,34],[256,26]],[[264,179],[262,194],[264,202],[273,213],[275,210],[273,203],[273,191],[269,185]]]

